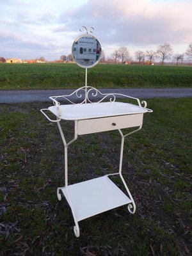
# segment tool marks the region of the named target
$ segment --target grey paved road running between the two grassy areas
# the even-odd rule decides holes
[[[45,102],[49,101],[50,96],[68,95],[74,90],[4,90],[0,91],[0,103],[19,103],[19,102]],[[149,98],[180,98],[192,97],[192,88],[110,88],[100,89],[102,93],[122,93],[131,97]]]

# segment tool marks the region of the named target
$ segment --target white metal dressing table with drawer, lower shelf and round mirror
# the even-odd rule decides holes
[[[92,32],[92,29],[91,27],[90,32]],[[91,45],[88,46],[88,51],[86,51],[87,45]],[[72,56],[79,66],[86,68],[87,77],[87,67],[93,67],[97,64],[101,56],[101,47],[98,40],[88,34],[79,36],[72,47]],[[118,97],[136,100],[137,105],[118,102],[116,101]],[[86,78],[85,86],[75,90],[70,95],[52,96],[49,98],[53,101],[54,105],[48,109],[41,109],[41,112],[49,121],[58,124],[65,148],[65,186],[57,189],[57,195],[58,199],[61,200],[61,195],[63,194],[67,199],[68,205],[70,205],[75,222],[74,233],[76,236],[79,237],[80,235],[79,221],[101,212],[127,205],[128,211],[134,214],[136,205],[122,176],[124,139],[129,134],[141,129],[144,113],[152,112],[151,109],[147,109],[147,102],[140,102],[139,99],[127,95],[120,95],[119,93],[101,93],[96,88],[87,86]],[[65,100],[65,104],[61,104],[62,100]],[[66,100],[68,104],[66,104]],[[54,114],[56,120],[49,118],[46,111]],[[74,138],[69,142],[65,140],[60,124],[61,120],[71,120],[74,122]],[[121,129],[131,127],[136,128],[134,131],[123,134]],[[79,135],[112,130],[118,130],[122,137],[118,172],[69,185],[68,146],[76,141]],[[126,195],[110,179],[111,175],[120,176],[127,191]]]

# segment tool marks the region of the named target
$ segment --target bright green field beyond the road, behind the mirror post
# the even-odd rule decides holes
[[[84,68],[76,64],[0,63],[0,90],[77,88]],[[97,88],[191,87],[192,67],[102,65],[88,69],[88,85]]]

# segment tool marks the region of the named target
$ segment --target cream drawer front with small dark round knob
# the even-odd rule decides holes
[[[77,122],[77,134],[111,131],[136,127],[141,124],[143,124],[143,114],[79,120]]]

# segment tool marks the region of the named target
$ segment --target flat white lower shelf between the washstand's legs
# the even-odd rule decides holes
[[[77,221],[132,202],[108,176],[72,184],[67,189]],[[70,205],[67,189],[61,191]]]

